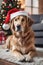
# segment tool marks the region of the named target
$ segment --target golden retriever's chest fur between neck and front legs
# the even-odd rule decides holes
[[[32,33],[33,34],[33,33]],[[11,38],[11,44],[12,44],[12,50],[17,49],[18,51],[22,52],[23,54],[29,52],[30,47],[32,46],[32,35],[30,32],[27,32],[26,34],[24,34],[22,37],[16,37],[16,36],[12,36]]]

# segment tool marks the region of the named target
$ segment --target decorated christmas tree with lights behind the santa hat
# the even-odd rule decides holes
[[[3,0],[0,10],[0,25],[5,21],[7,12],[12,8],[21,8],[21,3],[19,0]]]

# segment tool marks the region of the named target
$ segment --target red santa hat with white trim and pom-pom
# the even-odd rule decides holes
[[[11,9],[10,11],[8,11],[7,16],[6,16],[6,19],[5,19],[5,22],[4,22],[3,26],[2,26],[2,28],[3,28],[4,30],[8,30],[8,29],[10,28],[10,25],[9,25],[10,21],[11,21],[14,17],[19,16],[19,15],[24,15],[24,16],[30,17],[30,16],[28,15],[28,13],[25,12],[24,10],[18,10],[18,9],[16,9],[16,8],[13,8],[13,9]]]

